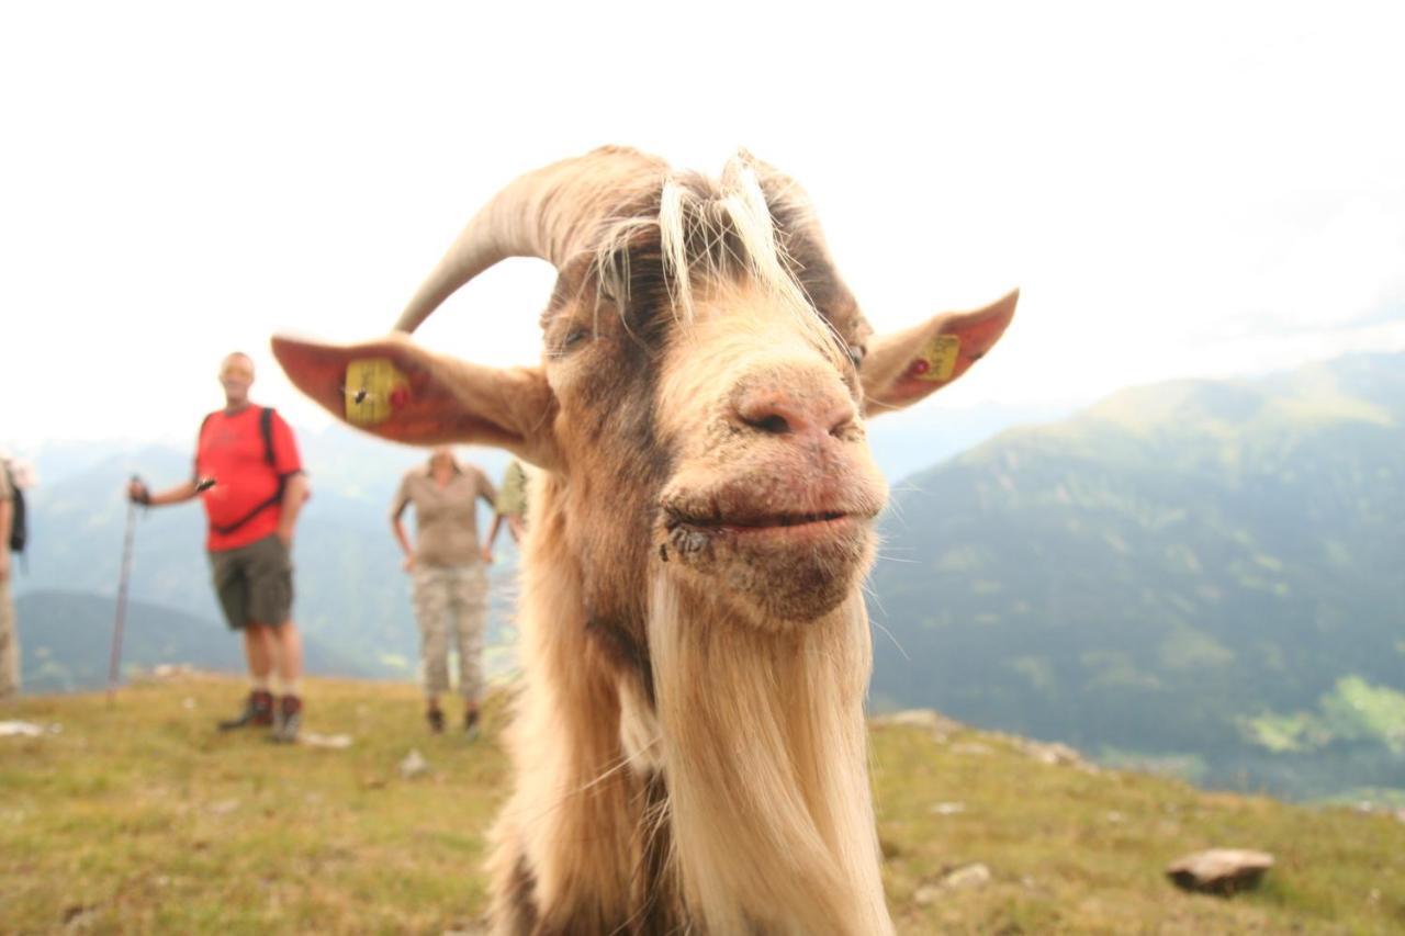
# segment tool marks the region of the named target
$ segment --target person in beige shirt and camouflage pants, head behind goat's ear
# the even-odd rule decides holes
[[[420,627],[420,666],[430,731],[444,731],[438,697],[447,693],[450,639],[458,648],[458,691],[464,697],[464,734],[478,736],[483,694],[483,624],[488,617],[488,569],[492,550],[478,542],[478,499],[497,499],[493,482],[461,464],[441,446],[429,461],[400,479],[391,502],[391,530],[413,576],[414,617]],[[414,544],[400,517],[414,506]]]

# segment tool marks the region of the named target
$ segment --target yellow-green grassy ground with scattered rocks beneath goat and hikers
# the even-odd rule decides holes
[[[502,700],[478,743],[427,736],[406,684],[311,680],[309,725],[344,750],[211,724],[236,680],[187,676],[0,711],[0,929],[472,930],[485,836],[507,791]],[[875,727],[880,835],[903,933],[1391,932],[1405,928],[1405,822],[1388,812],[1197,793],[1045,763],[1016,738]],[[398,763],[422,752],[429,773]],[[1184,852],[1260,847],[1277,867],[1231,901],[1173,890]],[[991,880],[943,887],[981,863]]]

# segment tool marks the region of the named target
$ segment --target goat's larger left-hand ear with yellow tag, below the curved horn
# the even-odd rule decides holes
[[[288,378],[337,419],[412,446],[479,443],[542,468],[559,462],[556,399],[538,367],[497,370],[429,351],[392,333],[365,344],[277,336]]]

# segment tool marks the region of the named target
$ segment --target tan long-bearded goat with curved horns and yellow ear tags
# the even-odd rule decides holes
[[[558,271],[538,367],[409,339],[511,256]],[[863,420],[960,377],[1016,299],[873,337],[792,180],[604,148],[492,198],[388,337],[274,339],[353,424],[544,469],[495,932],[892,932],[860,592],[887,486]]]

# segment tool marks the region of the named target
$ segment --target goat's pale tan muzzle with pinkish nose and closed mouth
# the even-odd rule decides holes
[[[676,559],[667,573],[763,625],[815,618],[850,592],[887,496],[861,416],[867,336],[857,316],[822,315],[754,285],[722,288],[673,329],[663,357],[672,471],[652,541]]]

